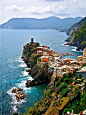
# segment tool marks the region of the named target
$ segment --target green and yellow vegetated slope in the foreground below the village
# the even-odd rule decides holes
[[[76,78],[73,80],[73,78]],[[80,82],[79,82],[80,81]],[[75,85],[72,85],[74,82]],[[74,113],[80,113],[86,108],[86,84],[84,85],[83,95],[82,87],[77,84],[82,84],[83,79],[80,75],[77,79],[76,72],[64,75],[58,78],[50,89],[44,91],[43,98],[34,104],[34,107],[29,107],[24,115],[47,115],[60,111],[60,115],[67,111],[74,110]],[[59,100],[59,101],[58,101]]]

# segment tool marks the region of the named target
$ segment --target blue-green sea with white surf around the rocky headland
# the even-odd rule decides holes
[[[64,45],[68,38],[65,32],[55,30],[29,30],[29,29],[0,29],[0,115],[13,115],[25,113],[28,107],[43,97],[43,91],[47,84],[41,84],[27,88],[25,83],[32,79],[26,72],[27,66],[21,59],[23,46],[29,43],[31,38],[40,45],[47,45],[57,53],[69,52],[74,56],[65,58],[77,59],[82,51],[76,51],[76,47]],[[12,89],[23,88],[26,95],[24,100],[16,101]]]

